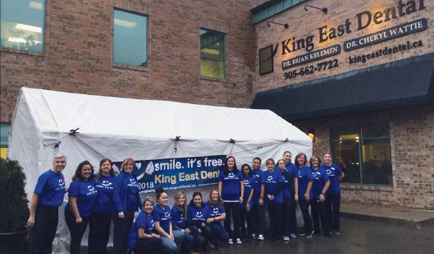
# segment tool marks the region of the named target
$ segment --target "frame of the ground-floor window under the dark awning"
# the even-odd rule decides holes
[[[381,136],[381,137],[367,137],[364,138],[362,137],[362,128],[363,127],[367,127],[369,125],[375,125],[375,124],[384,124],[387,125],[389,132],[388,132],[388,136]],[[333,151],[333,144],[336,144],[338,142],[341,141],[355,141],[356,139],[333,139],[333,128],[342,128],[342,127],[356,127],[357,128],[357,135],[358,135],[358,156],[359,156],[359,173],[360,173],[360,182],[359,183],[346,183],[346,182],[342,182],[342,184],[345,185],[367,185],[367,186],[384,186],[384,187],[393,187],[394,183],[393,183],[393,179],[392,179],[392,183],[391,184],[379,184],[379,183],[363,183],[363,163],[364,163],[364,158],[362,156],[362,146],[363,146],[363,142],[364,141],[371,141],[371,140],[384,140],[384,139],[389,139],[389,158],[390,158],[390,163],[392,166],[392,144],[391,144],[391,140],[390,140],[390,122],[389,121],[381,121],[381,122],[364,122],[361,124],[354,124],[354,125],[341,125],[341,126],[332,126],[329,127],[329,134],[330,134],[330,149],[331,149],[331,156],[332,158],[336,158],[336,155],[334,154]],[[333,162],[332,162],[333,163]],[[391,173],[390,176],[392,176],[393,178],[393,166],[391,168]],[[344,178],[345,179],[345,178]]]

